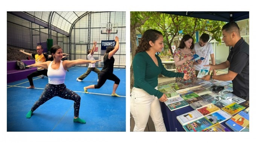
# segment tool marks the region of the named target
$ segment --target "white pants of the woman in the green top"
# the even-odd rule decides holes
[[[131,92],[130,102],[131,114],[135,121],[133,131],[143,132],[148,123],[149,115],[154,122],[155,131],[166,131],[160,103],[157,97],[149,95],[143,89],[134,87]]]

